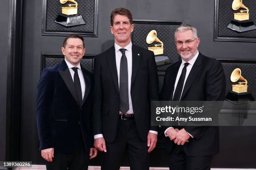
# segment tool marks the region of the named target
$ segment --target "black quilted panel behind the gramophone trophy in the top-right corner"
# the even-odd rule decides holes
[[[256,30],[246,31],[246,32],[236,32],[227,28],[231,19],[234,18],[233,13],[238,13],[239,10],[244,10],[240,8],[239,10],[232,10],[233,0],[218,0],[219,1],[219,13],[217,14],[219,20],[217,21],[218,26],[218,36],[219,37],[246,37],[246,38],[256,38]],[[250,20],[253,20],[256,24],[256,1],[255,0],[243,0],[243,4],[249,8]]]

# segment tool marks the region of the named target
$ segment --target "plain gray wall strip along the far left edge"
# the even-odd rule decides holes
[[[6,132],[6,81],[8,62],[8,26],[9,26],[9,0],[1,1],[0,10],[0,160],[5,160],[5,132]]]

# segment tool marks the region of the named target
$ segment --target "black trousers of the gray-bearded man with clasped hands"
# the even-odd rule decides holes
[[[186,144],[185,144],[186,145]],[[212,155],[188,156],[184,145],[174,144],[168,156],[170,170],[210,170]]]

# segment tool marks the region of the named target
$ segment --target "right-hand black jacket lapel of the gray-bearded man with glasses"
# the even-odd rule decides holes
[[[195,61],[192,69],[189,72],[189,75],[187,77],[186,83],[184,85],[184,89],[182,92],[182,97],[180,100],[182,100],[182,98],[184,97],[184,95],[187,93],[187,91],[189,90],[190,86],[192,85],[192,83],[195,80],[195,77],[197,77],[197,74],[199,73],[199,71],[202,68],[202,54],[199,53],[197,60]]]

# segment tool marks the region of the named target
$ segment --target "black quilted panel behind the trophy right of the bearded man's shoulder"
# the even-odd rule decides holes
[[[241,74],[248,81],[248,92],[251,92],[254,99],[256,99],[256,63],[228,63],[222,62],[223,69],[226,77],[226,95],[232,90],[231,85],[238,82],[231,82],[230,75],[235,68],[241,69]],[[240,80],[239,80],[240,81]]]

